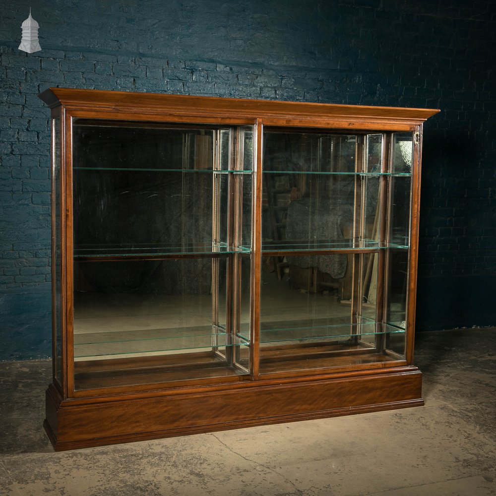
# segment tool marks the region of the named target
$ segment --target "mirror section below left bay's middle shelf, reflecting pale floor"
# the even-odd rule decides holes
[[[223,284],[216,294],[213,270]],[[74,263],[76,360],[175,353],[212,327],[224,333],[225,277],[225,260],[209,258]]]

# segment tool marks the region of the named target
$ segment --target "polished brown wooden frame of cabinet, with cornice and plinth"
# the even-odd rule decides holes
[[[422,128],[426,119],[437,111],[364,107],[314,103],[277,102],[261,100],[225,99],[214,97],[144,94],[117,91],[76,90],[51,88],[40,98],[52,109],[52,280],[53,280],[53,355],[54,379],[47,389],[45,429],[56,450],[72,449],[152,439],[181,434],[194,434],[254,425],[349,415],[354,413],[389,410],[423,404],[421,372],[413,365],[415,329],[415,294],[417,272],[418,219],[420,201],[420,163]],[[227,339],[238,338],[241,315],[241,278],[244,262],[249,267],[249,301],[245,302],[248,330],[243,339],[246,348],[226,346],[226,359],[233,373],[195,375],[194,360],[203,356],[191,351],[182,355],[181,367],[175,375],[164,371],[175,362],[175,355],[112,358],[107,361],[75,362],[74,360],[74,208],[73,145],[74,123],[132,122],[143,125],[206,126],[214,129],[215,142],[221,141],[221,129],[229,129],[230,165],[227,179],[227,245],[242,245],[244,222],[244,181],[251,181],[249,212],[250,245],[248,249],[233,248],[227,255],[221,251],[141,253],[128,255],[126,260],[199,260],[212,261],[212,321],[218,320],[216,302],[219,280],[219,263],[225,260],[226,269],[226,327]],[[148,124],[146,124],[148,123]],[[247,129],[249,131],[247,131]],[[349,246],[322,248],[310,244],[296,245],[293,249],[277,244],[262,246],[262,219],[264,216],[263,174],[264,139],[270,130],[301,133],[336,133],[356,136],[354,152],[354,218],[350,228],[354,233]],[[227,131],[226,131],[227,132]],[[245,133],[251,133],[251,168],[240,169],[243,160]],[[375,248],[363,243],[366,230],[365,207],[367,183],[363,178],[368,153],[367,136],[376,133],[380,141],[380,170],[374,177],[378,181],[377,212],[380,222]],[[412,164],[410,178],[411,210],[407,237],[408,247],[401,247],[390,239],[395,194],[393,176],[393,139],[395,133],[410,133]],[[247,134],[248,135],[248,134]],[[220,158],[218,144],[214,144],[214,162]],[[212,239],[219,236],[221,176],[212,170]],[[220,166],[217,167],[220,169]],[[392,172],[393,171],[393,172]],[[266,171],[265,171],[266,172]],[[277,171],[275,171],[277,173]],[[220,174],[220,173],[219,173]],[[245,174],[243,176],[243,174]],[[397,174],[401,176],[401,174]],[[403,174],[403,176],[406,176]],[[246,183],[248,184],[248,183]],[[224,194],[224,193],[222,193]],[[248,195],[247,195],[248,197]],[[217,198],[217,200],[215,200]],[[246,198],[245,198],[246,199]],[[248,202],[247,202],[248,203]],[[248,212],[244,212],[247,214]],[[378,214],[376,214],[378,215]],[[376,217],[377,218],[377,217]],[[393,218],[393,220],[391,220]],[[370,229],[370,226],[367,227]],[[387,246],[382,246],[382,245]],[[399,248],[398,248],[399,247]],[[350,331],[346,355],[339,355],[336,343],[331,347],[314,346],[314,342],[300,340],[296,344],[280,345],[276,341],[263,341],[261,318],[262,257],[296,260],[298,256],[318,256],[333,253],[348,257],[353,267]],[[395,255],[396,253],[396,255]],[[400,255],[397,255],[400,253]],[[370,256],[369,256],[370,255]],[[92,255],[93,256],[93,255]],[[406,267],[406,316],[403,329],[404,349],[387,350],[390,335],[386,332],[388,312],[388,281],[393,258],[403,257]],[[108,260],[103,255],[101,260]],[[97,260],[98,256],[92,260]],[[76,260],[76,261],[75,261]],[[406,260],[406,262],[405,262]],[[244,261],[244,262],[243,262]],[[119,262],[115,262],[119,263]],[[377,301],[374,304],[374,341],[370,343],[367,360],[360,360],[363,350],[358,346],[360,315],[364,305],[364,278],[370,276],[374,264]],[[368,272],[369,271],[369,272]],[[369,275],[367,275],[369,274]],[[280,273],[279,273],[280,276]],[[312,277],[315,277],[315,272]],[[315,283],[316,284],[316,283]],[[231,330],[229,330],[231,329]],[[236,329],[236,331],[233,331]],[[237,334],[238,333],[238,334]],[[241,339],[241,337],[240,337]],[[353,341],[355,340],[355,341]],[[302,344],[303,343],[303,344]],[[329,343],[327,343],[329,344]],[[217,345],[213,345],[214,351]],[[342,345],[345,346],[345,345]],[[318,349],[317,349],[318,348]],[[400,346],[401,348],[401,346]],[[377,353],[372,354],[372,349]],[[244,350],[244,351],[241,351]],[[303,350],[303,351],[302,351]],[[229,355],[229,359],[227,356]],[[372,356],[373,355],[373,356]],[[205,354],[205,360],[207,354]],[[354,360],[350,356],[355,356]],[[300,357],[300,358],[295,358]],[[341,358],[340,358],[341,357]],[[375,357],[375,358],[374,358]],[[382,358],[381,358],[382,357]],[[169,361],[169,362],[168,362]],[[301,363],[300,363],[301,362]],[[124,379],[116,379],[117,367]],[[188,365],[188,364],[191,365]],[[308,365],[311,363],[312,365]],[[77,365],[77,368],[75,367]],[[97,364],[103,382],[82,386],[78,377],[95,372]],[[248,365],[242,365],[248,364]],[[284,365],[286,364],[286,365]],[[289,364],[289,365],[288,365]],[[137,370],[147,369],[146,380],[128,380]],[[110,371],[110,372],[109,372]],[[134,372],[133,372],[134,371]],[[170,371],[170,369],[167,369]],[[140,373],[141,373],[140,372]],[[187,373],[189,375],[187,375]],[[184,377],[181,374],[184,373]],[[82,375],[81,375],[82,374]],[[105,375],[107,374],[107,375]],[[153,375],[155,374],[155,375]],[[161,375],[162,374],[162,375]],[[89,376],[89,375],[88,375]],[[107,377],[107,378],[105,378]],[[100,379],[98,379],[100,380]],[[79,382],[78,382],[79,381]],[[86,383],[84,383],[86,384]]]

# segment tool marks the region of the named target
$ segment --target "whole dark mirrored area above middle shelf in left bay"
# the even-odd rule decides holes
[[[229,251],[230,130],[78,120],[74,248],[81,256]],[[212,222],[214,219],[214,222]]]

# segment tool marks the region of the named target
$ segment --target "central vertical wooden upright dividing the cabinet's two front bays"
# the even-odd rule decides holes
[[[250,281],[250,367],[253,378],[259,375],[260,362],[260,278],[262,231],[262,150],[263,124],[257,120],[253,139],[253,181],[251,205],[251,281]]]

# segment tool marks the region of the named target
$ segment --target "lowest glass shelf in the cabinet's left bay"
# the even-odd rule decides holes
[[[212,332],[212,329],[215,332]],[[126,355],[161,355],[248,346],[248,339],[225,332],[220,326],[139,329],[74,334],[74,358],[84,359]]]

